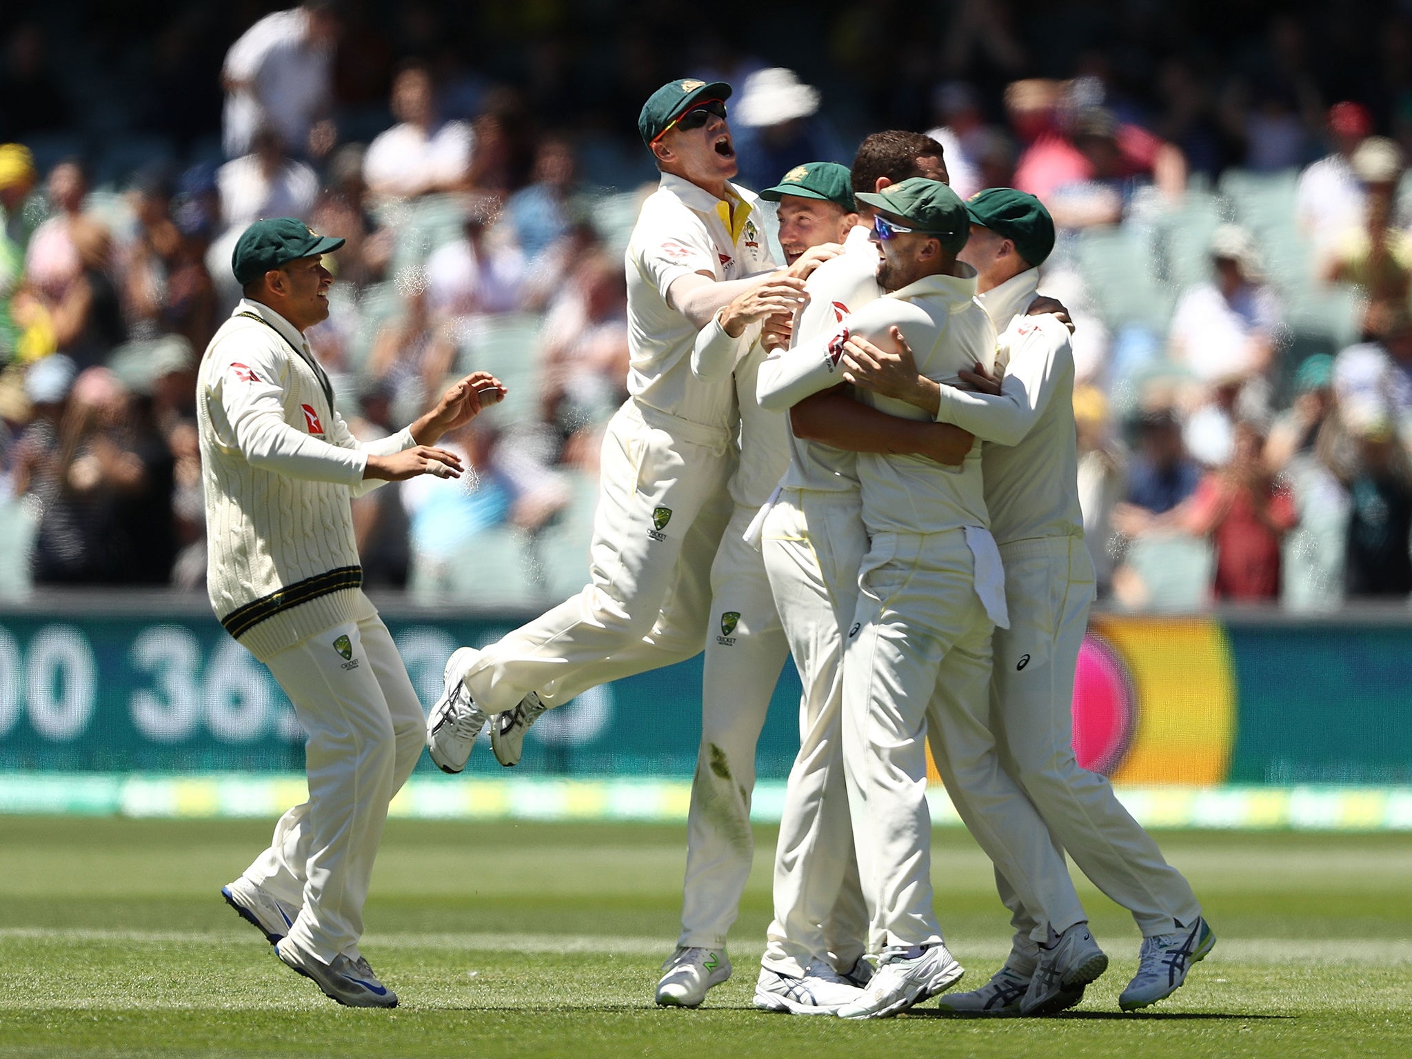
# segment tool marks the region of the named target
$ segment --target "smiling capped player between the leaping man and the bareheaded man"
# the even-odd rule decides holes
[[[849,169],[808,162],[778,186],[760,192],[779,203],[779,246],[794,265],[810,254],[837,254],[857,220]],[[730,977],[726,935],[750,877],[754,836],[750,796],[755,744],[789,645],[765,578],[760,549],[746,531],[789,463],[789,424],[755,398],[771,319],[791,319],[794,291],[757,287],[733,298],[696,337],[692,373],[706,381],[734,378],[740,407],[740,463],[730,479],[734,513],[712,565],[712,628],[702,685],[702,741],[686,823],[682,933],[657,986],[657,1003],[696,1007]],[[784,339],[781,339],[784,340]]]

